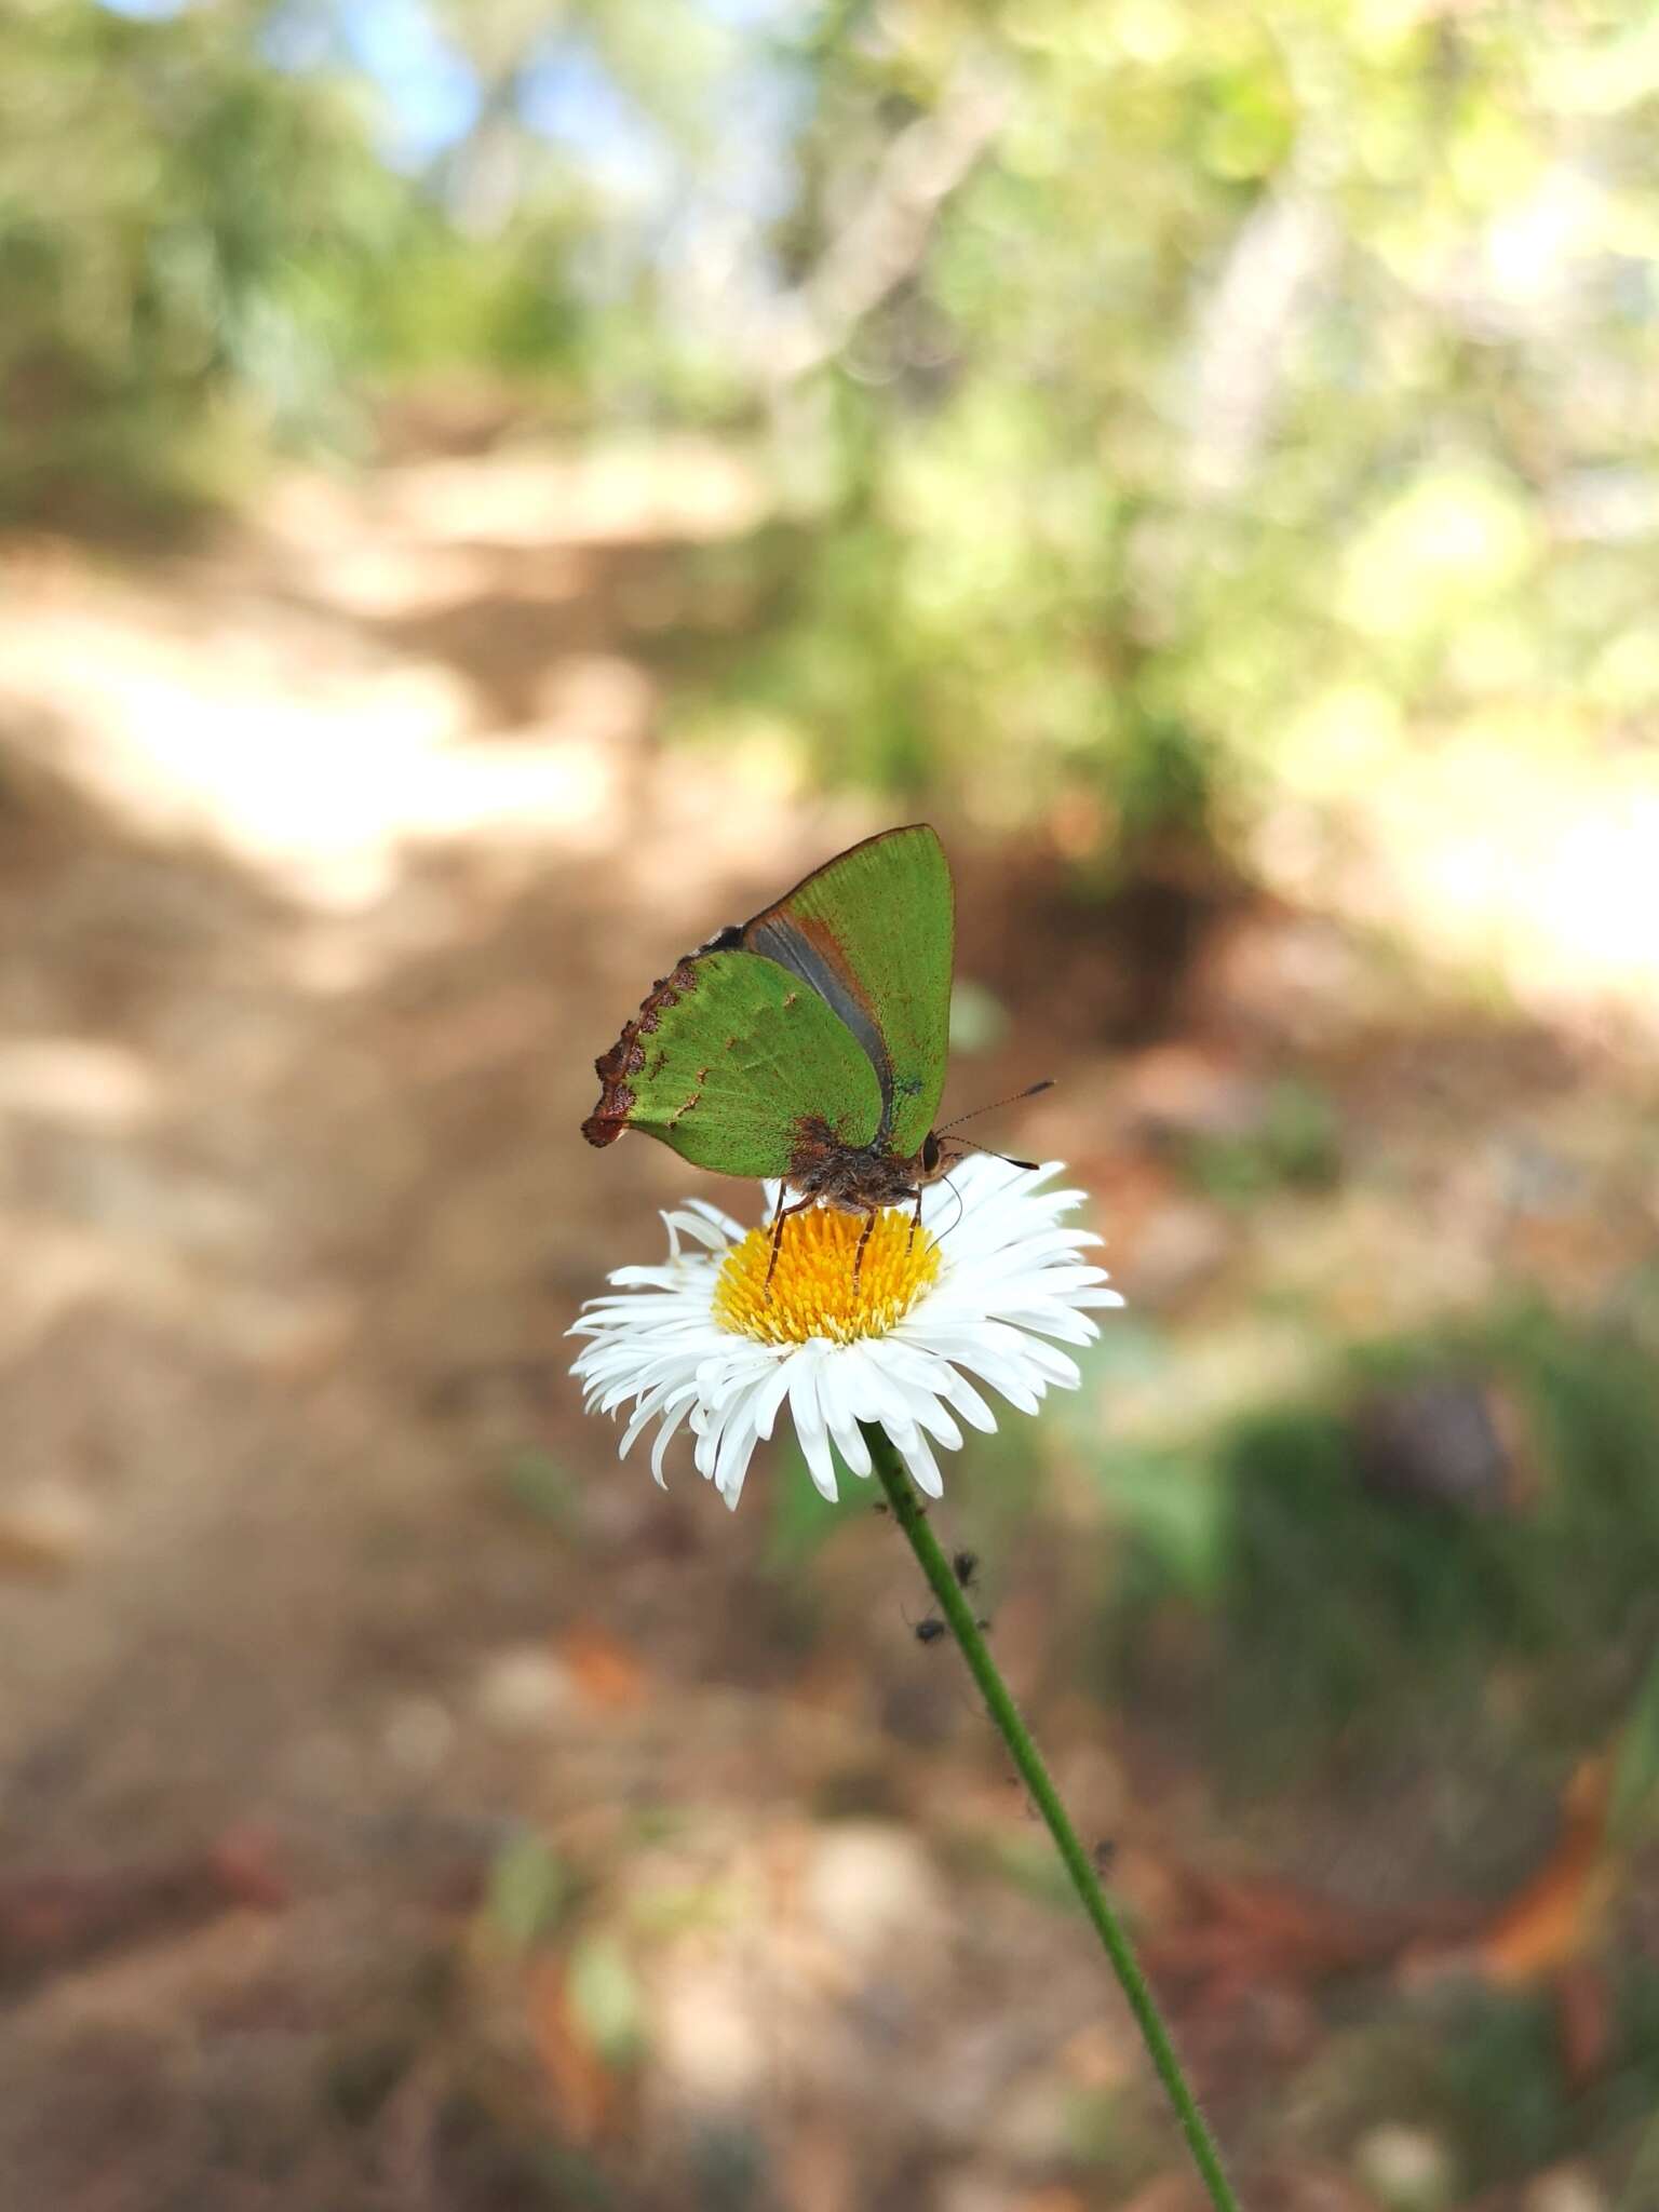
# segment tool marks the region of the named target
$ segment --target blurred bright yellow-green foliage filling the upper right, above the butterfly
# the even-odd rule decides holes
[[[1133,867],[1272,794],[1316,814],[1418,728],[1593,743],[1597,681],[1652,706],[1613,513],[1659,429],[1652,62],[1621,75],[1613,11],[838,20],[794,265],[964,86],[1006,119],[790,416],[830,504],[730,686],[825,772],[971,763],[980,818],[1064,805]]]

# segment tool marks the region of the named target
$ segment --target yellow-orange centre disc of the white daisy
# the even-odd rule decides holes
[[[770,1290],[772,1228],[750,1230],[721,1263],[719,1325],[761,1345],[803,1345],[810,1336],[849,1345],[858,1336],[885,1336],[938,1281],[938,1245],[927,1230],[911,1239],[911,1214],[887,1208],[869,1225],[854,1283],[865,1219],[821,1206],[790,1214]]]

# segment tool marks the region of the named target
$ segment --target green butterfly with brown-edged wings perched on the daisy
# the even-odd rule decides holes
[[[593,1064],[582,1135],[637,1128],[697,1168],[774,1177],[772,1267],[790,1214],[865,1214],[856,1279],[878,1212],[914,1206],[916,1234],[947,1166],[933,1117],[953,947],[951,869],[927,823],[847,847],[650,987]]]

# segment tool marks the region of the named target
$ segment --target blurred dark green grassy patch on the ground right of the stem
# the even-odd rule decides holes
[[[1540,1743],[1582,1745],[1632,1714],[1621,1805],[1635,1820],[1652,1688],[1628,1683],[1628,1637],[1659,1586],[1650,1360],[1524,1310],[1367,1347],[1354,1394],[1460,1365],[1515,1391],[1537,1438],[1535,1495],[1471,1511],[1378,1489],[1347,1407],[1327,1402],[1267,1407],[1188,1451],[1097,1462],[1128,1535],[1110,1663],[1155,1694],[1148,1668],[1166,1646],[1152,1626],[1179,1608],[1199,1657],[1175,1694],[1208,1717],[1219,1754],[1248,1745],[1256,1776],[1338,1745],[1378,1756],[1429,1712],[1502,1734],[1489,1686],[1504,1668],[1526,1683]]]

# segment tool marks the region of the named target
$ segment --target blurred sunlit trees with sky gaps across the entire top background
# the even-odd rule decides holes
[[[1655,106],[1601,0],[13,0],[0,509],[453,369],[763,420],[796,526],[681,723],[1179,874],[1652,728]]]

